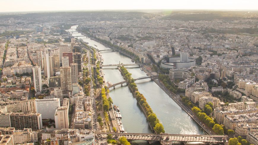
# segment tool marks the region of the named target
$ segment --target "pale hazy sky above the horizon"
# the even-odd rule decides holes
[[[257,10],[258,0],[0,0],[0,12],[113,9]]]

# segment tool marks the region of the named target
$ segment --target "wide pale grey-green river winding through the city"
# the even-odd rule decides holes
[[[76,31],[72,26],[69,31]],[[81,33],[74,32],[73,36],[82,36]],[[98,43],[90,38],[78,37],[83,41],[88,42],[90,46],[98,50],[106,50],[101,43]],[[97,47],[95,46],[97,45]],[[119,64],[119,63],[132,63],[131,59],[121,55],[119,52],[101,52],[104,60],[103,64]],[[128,71],[132,74],[134,79],[146,76],[144,71],[141,71],[136,66],[126,66]],[[104,67],[104,78],[112,84],[124,81],[120,71],[117,67]],[[157,118],[163,124],[165,133],[171,134],[205,134],[205,131],[194,121],[188,114],[181,109],[154,81],[150,79],[143,79],[136,81],[136,85],[140,93],[142,93],[150,107],[157,115]],[[127,86],[116,86],[116,89],[110,89],[110,96],[113,99],[114,105],[119,106],[122,123],[125,131],[128,133],[152,133],[150,130],[144,113],[137,105],[136,98],[130,92]],[[133,143],[133,144],[146,144],[146,142]],[[159,143],[157,143],[159,144]]]

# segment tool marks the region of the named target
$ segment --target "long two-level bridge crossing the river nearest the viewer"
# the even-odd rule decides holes
[[[116,138],[124,136],[129,141],[144,140],[144,141],[160,141],[162,145],[172,145],[173,141],[177,142],[204,142],[208,144],[213,143],[227,143],[228,136],[225,135],[183,135],[183,134],[150,134],[150,133],[102,133],[95,132],[97,135],[114,135]]]

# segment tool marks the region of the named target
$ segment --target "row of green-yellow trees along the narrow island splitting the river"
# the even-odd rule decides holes
[[[156,114],[153,113],[151,107],[146,101],[146,98],[138,91],[137,85],[134,83],[134,79],[131,77],[131,74],[124,66],[121,67],[121,71],[122,74],[125,76],[125,79],[128,81],[130,88],[135,93],[137,102],[141,105],[143,111],[146,113],[147,121],[150,123],[156,133],[165,133],[163,125],[160,123]]]

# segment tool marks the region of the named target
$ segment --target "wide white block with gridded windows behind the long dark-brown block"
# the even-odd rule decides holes
[[[36,99],[36,112],[42,114],[42,119],[55,119],[55,110],[60,107],[60,99]]]

